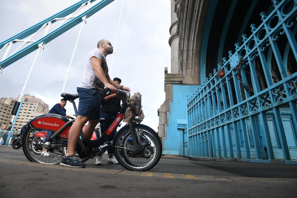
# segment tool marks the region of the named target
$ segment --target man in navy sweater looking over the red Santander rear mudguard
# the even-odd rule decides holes
[[[66,109],[64,108],[66,104],[67,104],[67,100],[62,98],[60,103],[55,104],[53,108],[50,109],[49,114],[59,114],[59,115],[65,116],[66,118],[71,118],[70,115],[66,115]],[[46,136],[43,140],[43,145],[52,135],[53,135],[53,131],[46,130]],[[49,156],[49,153],[46,151],[46,148],[43,147],[40,155]]]

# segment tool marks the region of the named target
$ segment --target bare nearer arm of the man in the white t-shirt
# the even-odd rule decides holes
[[[114,85],[110,84],[110,82],[106,79],[104,75],[104,71],[101,67],[101,60],[93,56],[91,58],[91,63],[97,78],[104,84],[106,88],[110,88],[111,93],[115,93],[117,89],[114,87]]]

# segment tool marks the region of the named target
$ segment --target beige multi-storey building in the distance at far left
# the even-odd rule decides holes
[[[16,98],[4,98],[0,100],[0,122],[8,124],[11,121],[11,111],[15,101],[19,100]],[[28,120],[35,118],[36,116],[47,114],[49,112],[49,105],[45,104],[40,98],[25,94],[21,100],[23,101],[20,108],[18,117],[15,122],[14,131],[17,129],[21,130],[22,126],[27,123]],[[3,108],[3,109],[1,109]]]

